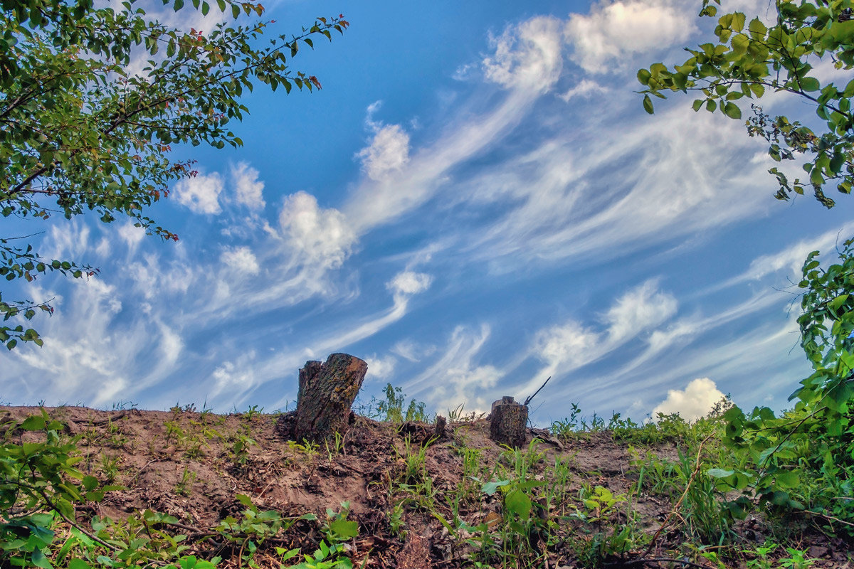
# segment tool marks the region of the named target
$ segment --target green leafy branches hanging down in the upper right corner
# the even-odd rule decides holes
[[[720,0],[703,0],[700,16],[717,16]],[[748,21],[741,12],[717,19],[715,41],[686,49],[691,57],[681,65],[654,63],[640,69],[638,80],[646,86],[643,106],[652,113],[650,96],[664,92],[698,91],[693,109],[704,108],[731,119],[742,118],[740,99],[761,99],[786,92],[815,108],[823,125],[816,130],[786,116],[771,117],[752,104],[746,127],[750,136],[769,142],[772,159],[804,160],[804,179],[793,180],[771,168],[779,188],[775,197],[788,200],[811,187],[816,200],[827,207],[834,200],[826,194],[835,186],[850,194],[854,184],[854,114],[851,97],[854,80],[834,83],[822,80],[833,75],[829,67],[854,67],[854,20],[851,0],[775,0],[775,22],[766,26],[758,16]],[[837,76],[842,75],[837,73]],[[819,121],[813,121],[821,125]]]

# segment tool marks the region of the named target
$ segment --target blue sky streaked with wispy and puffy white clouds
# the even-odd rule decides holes
[[[765,2],[723,3],[768,17]],[[243,148],[175,150],[200,173],[149,214],[178,243],[126,219],[16,228],[101,274],[26,288],[56,313],[33,322],[44,347],[0,354],[0,399],[293,409],[301,366],[344,351],[368,363],[362,402],[390,382],[444,414],[547,377],[540,425],[571,403],[635,420],[696,417],[723,394],[785,408],[809,374],[793,282],[807,253],[832,258],[854,233],[851,199],[775,200],[767,148],[691,96],[644,112],[637,69],[711,38],[698,11],[269,5],[276,33],[351,23],[293,61],[323,89],[256,88],[232,125]]]

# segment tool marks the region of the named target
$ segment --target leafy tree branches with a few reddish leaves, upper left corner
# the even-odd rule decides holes
[[[170,3],[171,2],[171,3]],[[259,3],[164,0],[198,11],[208,31],[167,26],[135,0],[118,8],[92,0],[0,0],[0,213],[3,218],[132,218],[149,235],[178,236],[145,215],[170,184],[193,177],[174,145],[238,147],[233,119],[249,112],[241,96],[254,84],[290,92],[320,89],[318,78],[290,69],[313,36],[331,38],[347,20],[318,18],[296,35],[260,39],[272,21]],[[225,20],[225,21],[222,21]],[[208,23],[209,22],[209,23]],[[32,282],[58,271],[76,278],[97,269],[42,258],[26,237],[0,235],[0,276]],[[20,241],[15,241],[15,240]],[[44,300],[3,299],[0,343],[41,345],[29,320]]]

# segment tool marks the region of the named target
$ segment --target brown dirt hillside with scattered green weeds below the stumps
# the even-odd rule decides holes
[[[321,446],[286,440],[286,415],[257,409],[44,411],[61,423],[56,438],[27,446],[46,440],[37,423],[21,428],[39,409],[0,407],[3,488],[8,496],[14,483],[12,447],[32,461],[76,441],[70,454],[86,477],[76,482],[89,495],[73,503],[77,529],[55,516],[56,536],[41,548],[54,566],[165,566],[178,555],[184,569],[213,558],[290,566],[305,555],[304,567],[327,568],[854,566],[851,543],[809,518],[722,518],[696,456],[716,452],[714,435],[700,431],[713,433],[713,421],[635,435],[601,422],[559,438],[529,429],[529,447],[512,451],[474,417],[452,417],[432,440],[425,423],[354,416],[343,438]],[[6,520],[44,507],[15,499]],[[0,560],[5,569],[26,555],[19,543]]]

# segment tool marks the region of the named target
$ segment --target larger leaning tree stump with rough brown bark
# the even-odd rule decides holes
[[[345,433],[367,370],[364,360],[348,354],[332,354],[325,363],[306,362],[300,369],[294,438],[320,442],[332,433]]]

